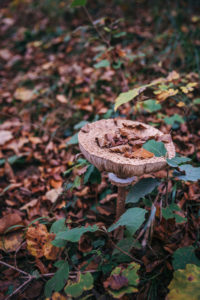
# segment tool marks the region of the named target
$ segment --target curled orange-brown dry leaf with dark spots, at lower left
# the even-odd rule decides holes
[[[43,224],[28,227],[26,232],[28,251],[37,258],[45,256],[46,259],[55,260],[60,249],[51,244],[54,237],[55,235],[48,233],[46,226]]]

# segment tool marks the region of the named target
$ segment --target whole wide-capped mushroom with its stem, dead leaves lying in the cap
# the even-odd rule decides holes
[[[100,120],[85,125],[78,134],[79,147],[85,158],[101,172],[108,172],[111,183],[118,186],[116,220],[124,213],[126,186],[132,184],[135,176],[167,166],[166,157],[155,157],[141,148],[142,143],[154,138],[159,141],[163,138],[168,158],[175,156],[171,136],[141,122]]]

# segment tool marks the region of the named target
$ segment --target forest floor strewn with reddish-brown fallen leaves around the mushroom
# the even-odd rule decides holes
[[[153,125],[200,166],[200,13],[187,1],[165,8],[88,3],[88,10],[34,2],[0,7],[0,299],[45,299],[54,263],[66,257],[71,279],[94,274],[93,288],[78,299],[114,299],[109,289],[121,291],[127,282],[114,287],[110,273],[134,259],[141,265],[138,290],[118,298],[165,299],[175,251],[191,247],[190,262],[199,264],[197,181],[181,181],[172,169],[168,177],[167,169],[150,175],[160,185],[137,203],[150,212],[157,199],[146,247],[142,238],[119,246],[112,233],[97,231],[57,251],[50,228],[61,218],[70,228],[114,223],[116,187],[79,155],[77,132],[87,122],[119,117]],[[167,87],[114,110],[121,92],[161,77]],[[161,216],[172,203],[185,221]],[[62,290],[52,296],[74,298]]]

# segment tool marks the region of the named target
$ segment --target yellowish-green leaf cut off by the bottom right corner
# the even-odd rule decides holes
[[[175,271],[168,289],[167,300],[199,300],[200,267],[188,264],[184,270]]]

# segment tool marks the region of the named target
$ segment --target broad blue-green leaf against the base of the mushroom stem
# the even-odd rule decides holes
[[[115,224],[109,227],[108,232],[115,230],[119,226],[126,226],[133,235],[144,222],[146,212],[145,209],[139,207],[129,208]]]

